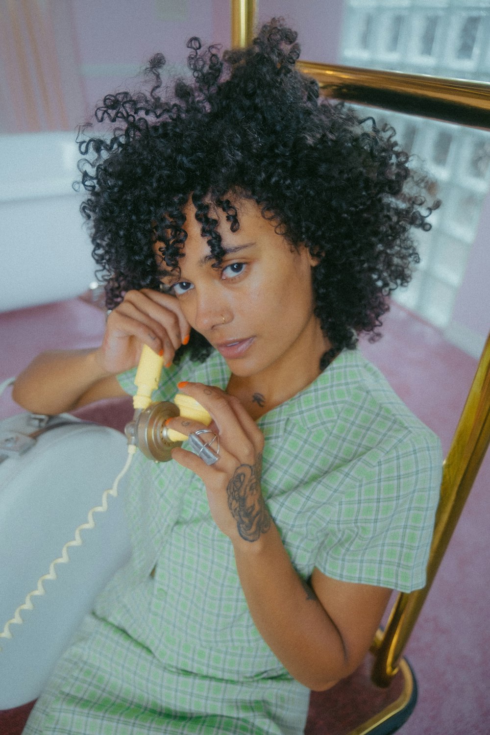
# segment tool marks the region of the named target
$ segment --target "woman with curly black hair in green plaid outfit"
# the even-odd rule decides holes
[[[100,348],[39,356],[15,399],[134,392],[146,344],[165,358],[154,398],[195,398],[219,445],[210,465],[185,443],[165,465],[137,453],[131,561],[27,734],[298,734],[392,589],[424,584],[439,443],[356,351],[417,261],[424,182],[390,130],[319,102],[295,40],[272,21],[221,59],[192,39],[195,82],[160,98],[155,57],[150,93],[98,108],[112,138],[81,144],[112,311]]]

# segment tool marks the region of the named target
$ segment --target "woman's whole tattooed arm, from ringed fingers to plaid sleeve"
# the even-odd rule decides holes
[[[206,485],[212,516],[233,544],[253,621],[289,673],[310,689],[328,689],[360,664],[391,590],[336,581],[317,569],[306,585],[262,497],[262,432],[237,398],[197,383],[179,388],[212,415],[220,451],[211,466],[181,448],[172,456]],[[169,426],[184,434],[203,428],[182,417]]]

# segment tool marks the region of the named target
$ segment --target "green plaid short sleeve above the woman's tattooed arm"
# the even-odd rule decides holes
[[[408,431],[344,466],[315,566],[326,576],[411,592],[425,584],[442,454],[428,429]]]

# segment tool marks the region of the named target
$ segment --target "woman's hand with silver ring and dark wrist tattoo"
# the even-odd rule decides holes
[[[183,416],[167,423],[187,436],[199,429],[219,437],[217,462],[206,465],[197,454],[176,448],[172,457],[179,465],[188,467],[201,478],[215,523],[233,542],[239,539],[253,542],[270,528],[271,519],[264,503],[260,478],[264,435],[257,428],[238,398],[220,388],[202,383],[181,383],[179,390],[195,398],[212,417],[210,426]],[[211,434],[201,434],[204,443]],[[216,451],[217,442],[211,449]]]

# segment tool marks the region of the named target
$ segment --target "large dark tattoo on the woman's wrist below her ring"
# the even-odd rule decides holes
[[[228,483],[228,508],[245,541],[256,541],[270,528],[270,515],[260,488],[262,455],[255,465],[239,465]]]

